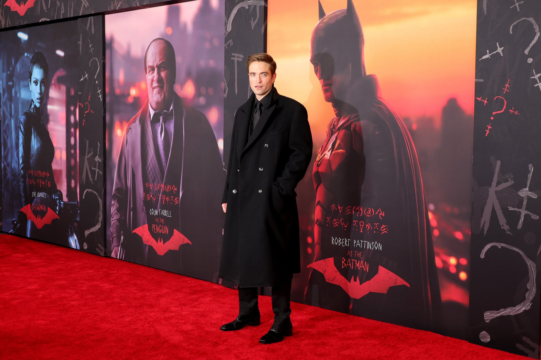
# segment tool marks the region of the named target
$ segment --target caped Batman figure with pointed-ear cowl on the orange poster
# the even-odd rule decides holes
[[[313,168],[315,251],[305,301],[432,330],[441,299],[415,147],[377,77],[366,74],[352,0],[330,14],[320,3],[319,13],[310,61],[335,117]]]

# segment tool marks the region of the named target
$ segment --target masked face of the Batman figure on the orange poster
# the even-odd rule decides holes
[[[339,51],[333,48],[333,44],[314,30],[310,62],[314,66],[315,76],[319,79],[326,102],[344,100],[351,82],[351,63],[340,58]]]

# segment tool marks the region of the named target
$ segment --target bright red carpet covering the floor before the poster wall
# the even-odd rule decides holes
[[[272,325],[223,332],[237,292],[116,259],[0,235],[2,359],[518,359],[432,332],[292,304],[294,334],[259,344]]]

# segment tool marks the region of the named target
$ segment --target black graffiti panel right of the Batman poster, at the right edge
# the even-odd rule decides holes
[[[511,3],[477,10],[470,341],[539,358],[541,3]]]

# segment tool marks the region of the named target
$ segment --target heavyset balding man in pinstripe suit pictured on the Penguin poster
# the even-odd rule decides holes
[[[217,281],[224,176],[216,137],[173,90],[171,43],[150,42],[144,65],[148,101],[128,123],[116,165],[111,256]]]

